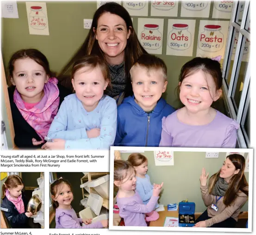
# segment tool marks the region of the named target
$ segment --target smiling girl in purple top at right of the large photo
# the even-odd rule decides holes
[[[162,118],[159,147],[235,148],[239,124],[211,107],[222,90],[220,63],[196,57],[181,68],[183,108]]]

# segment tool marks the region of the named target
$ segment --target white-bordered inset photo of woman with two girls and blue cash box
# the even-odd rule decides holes
[[[111,147],[110,156],[109,229],[251,231],[253,149]]]

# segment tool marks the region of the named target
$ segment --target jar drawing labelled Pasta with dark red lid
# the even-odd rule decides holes
[[[205,25],[198,39],[198,47],[201,50],[216,52],[223,48],[224,36],[220,25]]]

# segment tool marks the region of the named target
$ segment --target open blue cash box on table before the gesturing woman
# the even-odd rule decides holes
[[[195,203],[179,203],[179,227],[193,227],[195,224]]]

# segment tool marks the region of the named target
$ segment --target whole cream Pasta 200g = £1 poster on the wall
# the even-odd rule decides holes
[[[228,36],[229,21],[200,20],[196,56],[223,59]]]

